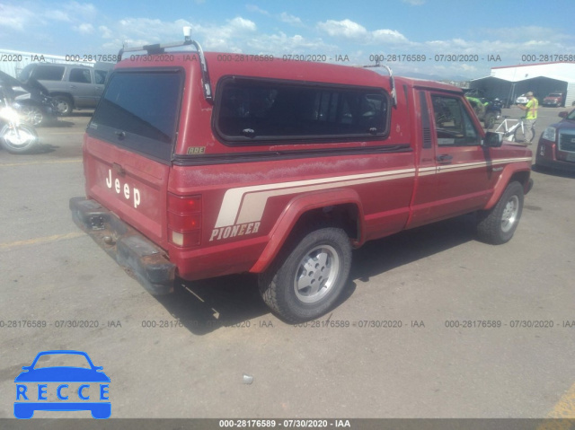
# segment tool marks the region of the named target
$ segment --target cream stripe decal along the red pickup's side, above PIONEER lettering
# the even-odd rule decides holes
[[[532,161],[531,157],[507,158],[492,162],[469,162],[463,164],[447,164],[437,167],[423,167],[417,170],[419,176],[428,176],[449,171],[470,170],[494,164],[509,162]],[[222,206],[217,215],[214,228],[226,227],[234,224],[246,224],[261,221],[263,210],[270,197],[285,196],[319,189],[334,189],[351,185],[398,180],[415,176],[415,169],[400,169],[395,171],[374,171],[358,175],[336,176],[332,178],[318,178],[314,180],[296,180],[273,184],[253,185],[228,189],[224,195]]]

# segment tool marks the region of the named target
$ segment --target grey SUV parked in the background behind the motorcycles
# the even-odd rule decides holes
[[[33,63],[22,69],[19,79],[24,82],[33,78],[44,85],[56,101],[58,114],[67,116],[73,110],[96,107],[109,70],[90,66]]]

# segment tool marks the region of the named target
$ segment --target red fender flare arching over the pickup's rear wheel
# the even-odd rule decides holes
[[[358,208],[358,240],[354,241],[354,243],[359,244],[363,242],[363,206],[358,193],[354,189],[330,189],[306,193],[303,196],[294,197],[288,202],[288,205],[279,215],[278,221],[268,233],[268,244],[261,252],[258,261],[250,269],[250,272],[261,273],[270,266],[288,239],[289,234],[293,231],[297,221],[306,212],[322,207],[346,204],[351,204]]]

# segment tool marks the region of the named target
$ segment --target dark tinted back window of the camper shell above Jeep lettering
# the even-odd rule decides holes
[[[181,71],[117,71],[94,111],[88,133],[169,160],[181,101]]]

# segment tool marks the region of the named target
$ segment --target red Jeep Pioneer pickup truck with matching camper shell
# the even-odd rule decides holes
[[[147,50],[111,74],[70,200],[152,294],[252,272],[273,312],[312,320],[366,241],[472,212],[482,241],[513,236],[531,151],[484,133],[456,87],[173,45],[120,51]]]

